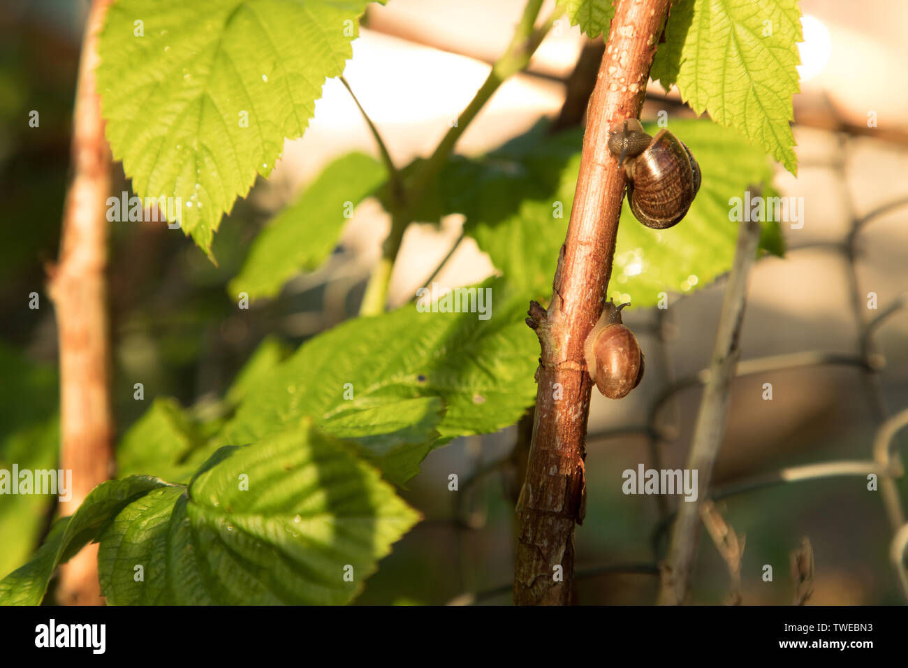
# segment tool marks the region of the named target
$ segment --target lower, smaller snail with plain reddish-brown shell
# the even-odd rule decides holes
[[[621,323],[621,309],[625,306],[616,306],[613,300],[608,300],[584,346],[589,377],[609,399],[627,396],[643,378],[640,344],[634,333]]]

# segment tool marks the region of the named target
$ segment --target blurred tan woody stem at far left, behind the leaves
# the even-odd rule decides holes
[[[60,514],[75,512],[85,496],[113,473],[114,415],[110,399],[107,320],[107,195],[111,157],[95,94],[97,33],[111,0],[94,0],[75,92],[73,180],[66,194],[60,260],[48,267],[60,346],[60,466],[73,472],[72,498]],[[60,603],[104,602],[98,584],[97,545],[88,545],[61,569]]]

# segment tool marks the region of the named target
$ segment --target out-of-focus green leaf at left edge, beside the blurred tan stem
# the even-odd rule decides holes
[[[60,445],[57,374],[0,345],[0,469],[46,471],[57,465]],[[16,484],[17,481],[11,481]],[[28,559],[40,541],[50,494],[4,494],[0,497],[0,575]]]

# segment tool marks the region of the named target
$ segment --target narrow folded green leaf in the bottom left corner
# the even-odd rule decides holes
[[[110,480],[94,488],[72,517],[54,524],[44,545],[29,563],[0,580],[0,605],[37,605],[57,565],[69,561],[116,513],[153,489],[168,486],[158,478],[133,476]]]

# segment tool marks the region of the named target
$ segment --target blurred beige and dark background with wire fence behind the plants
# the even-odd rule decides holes
[[[0,5],[3,414],[33,421],[28,424],[51,439],[57,351],[44,264],[57,255],[87,6],[72,0]],[[398,165],[429,154],[506,48],[522,6],[521,0],[370,6],[345,76]],[[742,360],[751,362],[741,369],[752,373],[735,381],[714,478],[720,488],[786,466],[870,459],[879,425],[908,406],[908,86],[901,67],[908,61],[908,5],[879,0],[867,11],[865,3],[849,0],[802,0],[800,6],[799,169],[795,178],[778,168],[775,185],[784,195],[804,197],[805,224],[799,230],[784,224],[785,258],[765,257],[755,266],[742,339]],[[483,153],[540,117],[558,117],[568,90],[595,82],[601,48],[562,19],[528,71],[502,85],[469,127],[459,152]],[[354,149],[377,154],[340,82],[328,82],[323,94],[306,135],[285,145],[269,181],[256,184],[223,220],[213,247],[219,266],[191,241],[166,234],[163,224],[112,224],[121,434],[154,396],[175,396],[202,414],[266,334],[292,347],[356,314],[389,226],[375,201],[357,208],[329,262],[294,279],[279,298],[237,311],[226,292],[255,234],[322,166]],[[41,112],[40,131],[28,125],[33,109]],[[693,116],[676,91],[650,85],[643,117],[652,120],[660,110],[670,118]],[[115,170],[114,192],[129,190],[122,167]],[[392,278],[394,304],[409,301],[449,254],[461,222],[450,216],[441,225],[410,227]],[[437,280],[473,284],[493,271],[468,238]],[[655,601],[657,578],[647,564],[665,549],[659,527],[674,508],[654,497],[622,495],[621,472],[649,465],[654,454],[665,467],[684,465],[701,394],[696,374],[708,365],[723,289],[719,280],[696,293],[671,294],[665,311],[626,312],[647,356],[646,378],[619,403],[593,396],[587,517],[577,530],[580,603]],[[42,300],[39,309],[28,307],[33,292]],[[876,310],[867,308],[868,293],[876,294]],[[34,372],[27,394],[12,382],[14,367],[25,366]],[[144,384],[144,402],[133,400],[136,379]],[[772,401],[760,400],[766,383],[773,385]],[[0,424],[0,435],[12,420]],[[357,603],[509,602],[517,438],[514,427],[429,455],[402,493],[426,519],[380,564]],[[450,473],[459,474],[461,494],[448,491]],[[809,603],[903,602],[887,556],[892,532],[879,493],[867,491],[864,477],[765,486],[729,495],[719,508],[745,537],[744,603],[792,602],[789,563],[803,537],[815,561]],[[621,564],[641,572],[616,571]],[[771,583],[761,579],[764,564],[774,567]],[[693,600],[725,602],[728,583],[725,563],[705,538]]]

